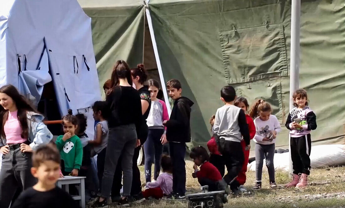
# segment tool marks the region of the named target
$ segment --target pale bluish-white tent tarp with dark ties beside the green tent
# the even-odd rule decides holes
[[[37,103],[52,79],[61,115],[101,100],[91,19],[77,0],[0,0],[0,5],[0,86],[13,84]],[[93,132],[92,113],[88,119]]]

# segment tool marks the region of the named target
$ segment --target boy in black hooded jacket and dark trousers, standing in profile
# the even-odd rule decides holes
[[[174,167],[172,171],[172,197],[185,199],[186,193],[186,142],[190,142],[190,107],[194,104],[187,97],[182,97],[181,83],[171,79],[167,83],[169,96],[174,100],[169,121],[164,121],[167,127],[170,157]]]

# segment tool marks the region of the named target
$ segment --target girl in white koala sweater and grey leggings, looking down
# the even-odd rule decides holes
[[[274,150],[276,135],[282,130],[276,116],[271,115],[272,108],[269,103],[260,99],[256,101],[250,110],[250,116],[254,119],[256,133],[255,141],[255,161],[256,161],[256,183],[253,189],[260,189],[262,186],[262,167],[264,156],[266,156],[266,166],[268,169],[269,186],[276,188],[274,176]]]

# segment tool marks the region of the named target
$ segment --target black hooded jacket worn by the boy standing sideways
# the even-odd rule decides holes
[[[190,142],[190,111],[193,102],[187,97],[180,97],[174,102],[167,127],[169,142]]]

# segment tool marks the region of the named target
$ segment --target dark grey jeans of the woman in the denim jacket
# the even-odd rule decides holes
[[[2,155],[0,171],[0,208],[8,208],[17,189],[25,190],[37,183],[30,172],[32,153],[23,153],[19,145],[11,145]]]

